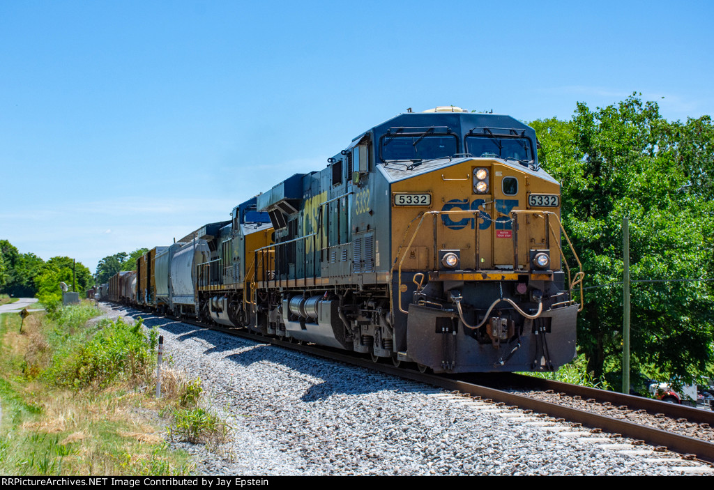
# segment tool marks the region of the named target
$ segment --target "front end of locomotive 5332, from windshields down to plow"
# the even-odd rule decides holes
[[[398,357],[435,372],[557,369],[575,355],[582,279],[561,267],[560,185],[528,126],[455,116],[380,139]]]

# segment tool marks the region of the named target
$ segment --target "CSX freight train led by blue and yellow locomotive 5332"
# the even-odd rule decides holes
[[[401,114],[148,252],[136,303],[434,372],[556,369],[583,273],[537,147],[509,116]]]

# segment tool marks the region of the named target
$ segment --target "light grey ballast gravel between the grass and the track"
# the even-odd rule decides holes
[[[675,476],[688,462],[668,464],[662,458],[671,455],[647,455],[648,446],[636,446],[644,455],[603,449],[564,435],[582,430],[568,424],[547,430],[518,420],[526,415],[476,409],[425,384],[102,307],[109,317],[141,316],[158,329],[164,359],[200,377],[208,406],[230,425],[229,441],[213,451],[171,443],[193,454],[203,474]]]

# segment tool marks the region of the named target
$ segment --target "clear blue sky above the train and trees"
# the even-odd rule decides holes
[[[168,245],[440,105],[568,119],[635,91],[714,113],[710,1],[0,2],[0,238]]]

